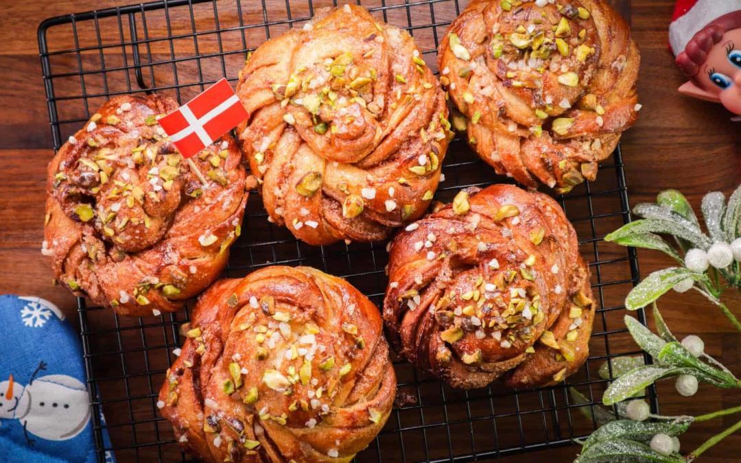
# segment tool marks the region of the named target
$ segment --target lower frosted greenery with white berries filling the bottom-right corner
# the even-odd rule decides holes
[[[578,463],[597,462],[691,462],[710,447],[741,430],[741,421],[712,436],[700,447],[685,456],[679,453],[679,436],[691,424],[704,422],[720,416],[741,413],[741,406],[717,410],[698,416],[651,415],[648,404],[641,399],[620,402],[642,396],[645,387],[659,379],[676,377],[675,386],[682,396],[697,392],[697,382],[702,381],[717,387],[741,387],[741,381],[722,363],[705,353],[705,346],[697,336],[687,336],[679,342],[671,333],[656,304],[653,307],[657,333],[631,316],[625,316],[625,324],[636,343],[651,355],[652,364],[643,364],[641,357],[617,357],[599,369],[599,376],[609,378],[612,371],[614,382],[610,384],[602,402],[617,405],[617,416],[601,407],[582,407],[589,418],[601,426],[582,444]],[[588,399],[577,390],[571,389],[577,404],[587,404]]]

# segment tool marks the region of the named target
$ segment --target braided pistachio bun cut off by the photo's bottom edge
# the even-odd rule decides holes
[[[396,376],[376,306],[310,267],[266,267],[199,299],[157,406],[205,462],[349,462]]]

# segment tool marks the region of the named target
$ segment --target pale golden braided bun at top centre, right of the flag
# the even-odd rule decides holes
[[[452,137],[439,82],[403,30],[318,10],[239,73],[237,127],[270,221],[309,244],[385,239],[425,213]]]

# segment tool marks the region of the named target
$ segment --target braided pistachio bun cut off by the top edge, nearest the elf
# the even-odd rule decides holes
[[[594,180],[636,120],[639,64],[603,0],[473,0],[439,48],[441,81],[468,119],[456,129],[496,173],[559,193]]]

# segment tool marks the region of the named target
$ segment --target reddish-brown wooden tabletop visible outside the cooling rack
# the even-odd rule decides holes
[[[0,15],[0,293],[33,294],[59,305],[76,321],[76,302],[53,287],[52,274],[39,252],[44,217],[44,176],[52,156],[47,104],[41,81],[36,27],[50,16],[115,6],[126,2],[64,0],[3,2]],[[279,2],[280,3],[280,2]],[[660,190],[679,188],[697,207],[711,190],[730,193],[741,181],[741,124],[722,107],[680,96],[679,70],[667,47],[673,1],[617,1],[630,11],[634,38],[642,52],[639,96],[643,104],[635,127],[622,138],[625,176],[631,204],[653,201]],[[632,4],[631,4],[632,3]],[[671,264],[659,253],[640,252],[642,275]],[[741,298],[728,300],[741,316]],[[696,294],[670,294],[661,301],[668,324],[678,336],[694,333],[705,339],[711,355],[741,374],[740,336],[720,312]],[[681,398],[672,384],[659,387],[662,413],[700,414],[741,404],[741,393],[701,385],[691,399]],[[699,424],[682,438],[682,449],[697,447],[728,427],[732,417]],[[578,447],[545,450],[503,461],[570,461]],[[708,452],[702,461],[741,461],[741,433]]]

